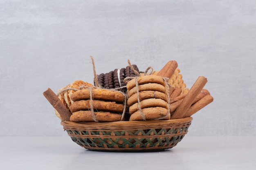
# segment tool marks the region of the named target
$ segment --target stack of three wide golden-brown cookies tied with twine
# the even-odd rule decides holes
[[[120,91],[93,87],[74,92],[71,99],[70,121],[120,121],[126,109]]]

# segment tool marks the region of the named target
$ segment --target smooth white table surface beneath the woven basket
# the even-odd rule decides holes
[[[0,170],[256,170],[256,137],[185,136],[161,152],[97,152],[70,137],[0,137]]]

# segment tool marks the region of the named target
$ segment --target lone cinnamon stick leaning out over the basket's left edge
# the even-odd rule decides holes
[[[65,104],[61,102],[58,96],[52,91],[52,89],[47,88],[45,92],[43,92],[45,98],[52,104],[52,106],[58,111],[64,121],[70,121],[70,116],[72,113],[70,110],[67,110]]]

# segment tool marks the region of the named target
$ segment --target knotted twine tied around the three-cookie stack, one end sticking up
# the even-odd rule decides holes
[[[69,91],[69,90],[74,90],[74,91],[78,91],[78,90],[82,90],[82,89],[88,89],[90,91],[90,111],[92,113],[92,119],[95,121],[95,122],[98,122],[98,119],[94,113],[94,107],[93,107],[93,97],[92,97],[92,89],[93,88],[102,88],[99,83],[98,83],[98,79],[97,79],[97,73],[96,73],[96,69],[95,69],[95,63],[94,63],[94,59],[92,56],[90,56],[91,60],[92,60],[92,66],[93,66],[93,74],[94,74],[94,82],[95,82],[95,85],[96,86],[79,86],[79,88],[65,88],[61,91],[58,92],[57,96],[60,95],[61,93],[65,92],[65,91]],[[117,91],[118,89],[121,89],[121,88],[125,88],[126,86],[123,86],[123,87],[119,87],[119,88],[113,88],[113,89],[108,89],[110,91]],[[127,95],[122,92],[122,91],[117,91],[119,93],[122,93],[125,97],[124,99],[124,110],[123,110],[123,113],[122,113],[122,116],[121,116],[121,120],[120,121],[123,121],[124,119],[124,115],[125,115],[125,111],[126,111],[126,105],[127,105]],[[118,114],[118,113],[117,113]]]

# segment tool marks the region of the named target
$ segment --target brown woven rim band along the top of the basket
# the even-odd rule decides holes
[[[170,120],[147,120],[147,121],[112,121],[112,122],[72,122],[61,121],[64,129],[69,130],[136,130],[136,129],[149,129],[149,128],[169,128],[172,125],[187,126],[191,124],[192,117],[182,119]]]

